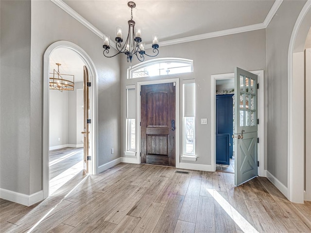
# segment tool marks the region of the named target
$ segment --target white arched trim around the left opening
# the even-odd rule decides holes
[[[49,60],[51,53],[59,48],[67,48],[77,52],[88,68],[89,76],[92,82],[92,174],[97,173],[97,142],[98,142],[98,74],[95,65],[86,51],[76,44],[69,41],[57,41],[50,45],[43,56],[43,199],[49,195]]]

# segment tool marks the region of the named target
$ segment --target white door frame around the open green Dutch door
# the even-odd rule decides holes
[[[264,115],[264,72],[263,70],[250,71],[253,74],[258,75],[258,83],[259,83],[259,91],[258,91],[258,159],[259,159],[259,167],[258,167],[258,175],[266,176],[266,171],[264,170],[264,155],[265,155],[265,145],[266,145],[266,137],[265,131],[267,124],[265,122]],[[210,109],[210,124],[211,124],[211,166],[212,170],[216,170],[216,80],[225,80],[225,79],[234,79],[234,73],[227,74],[216,74],[211,75],[211,109]]]

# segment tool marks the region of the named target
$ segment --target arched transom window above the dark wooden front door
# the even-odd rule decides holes
[[[182,58],[158,58],[142,62],[128,69],[128,79],[188,73],[193,61]]]

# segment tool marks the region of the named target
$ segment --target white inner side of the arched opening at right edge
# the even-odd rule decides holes
[[[297,62],[295,53],[303,52],[307,34],[311,27],[311,1],[307,1],[301,10],[294,30],[291,36],[288,50],[288,199],[294,202],[303,203],[305,190],[305,169],[310,166],[305,164],[305,131],[304,124],[301,124],[301,119],[304,119],[305,109],[304,104],[296,104],[304,100],[301,88],[303,75],[299,73],[294,63]],[[299,58],[298,58],[299,59]],[[295,81],[295,82],[294,82]],[[299,84],[300,83],[300,84]],[[300,86],[298,86],[300,85]],[[305,101],[303,101],[304,103]],[[307,179],[309,179],[307,177]],[[308,181],[310,183],[310,181]]]

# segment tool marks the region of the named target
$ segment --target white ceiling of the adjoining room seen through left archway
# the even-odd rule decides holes
[[[57,71],[56,63],[60,63],[59,73],[74,75],[74,82],[83,82],[84,62],[73,50],[59,48],[52,52],[50,56],[50,72]]]

